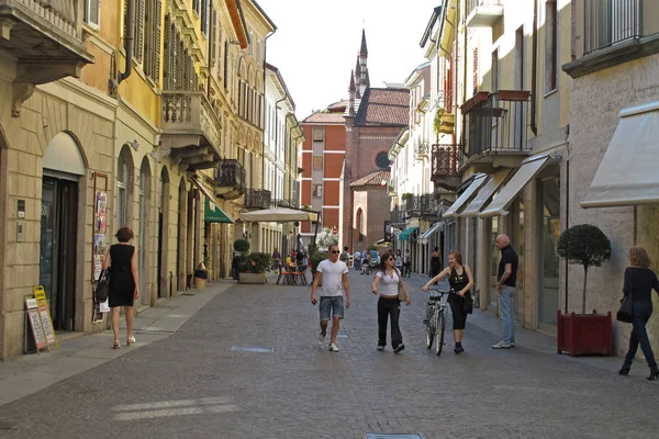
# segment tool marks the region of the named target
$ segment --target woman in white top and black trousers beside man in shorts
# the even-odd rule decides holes
[[[384,350],[387,346],[387,320],[391,318],[391,347],[398,353],[405,349],[401,328],[399,327],[401,316],[401,303],[398,297],[399,282],[405,291],[405,305],[410,304],[410,294],[403,283],[401,272],[394,264],[395,259],[391,251],[382,255],[380,271],[376,274],[371,291],[376,295],[380,294],[378,300],[378,350]],[[378,285],[380,285],[379,290]]]

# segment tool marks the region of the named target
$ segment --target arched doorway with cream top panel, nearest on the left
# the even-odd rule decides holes
[[[86,168],[74,137],[67,133],[53,137],[43,159],[40,284],[56,330],[76,329],[78,184]]]

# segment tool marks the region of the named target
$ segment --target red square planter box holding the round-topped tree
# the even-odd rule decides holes
[[[570,356],[613,354],[613,320],[611,313],[561,314],[558,312],[558,353]]]

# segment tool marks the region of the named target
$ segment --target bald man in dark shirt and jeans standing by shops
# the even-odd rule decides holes
[[[511,238],[507,235],[496,237],[496,248],[501,250],[499,272],[496,278],[496,291],[501,304],[501,319],[503,320],[503,337],[500,342],[492,345],[494,349],[510,349],[515,347],[515,305],[513,295],[515,293],[515,281],[517,280],[517,254],[511,247]]]

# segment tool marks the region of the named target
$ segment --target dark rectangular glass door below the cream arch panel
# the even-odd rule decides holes
[[[40,284],[55,330],[76,330],[77,180],[44,170],[42,182]]]

